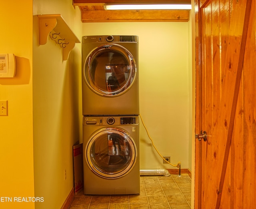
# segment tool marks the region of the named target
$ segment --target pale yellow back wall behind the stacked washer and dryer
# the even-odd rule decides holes
[[[191,22],[83,23],[83,36],[138,35],[140,114],[162,155],[191,170]],[[140,168],[163,164],[140,125]]]

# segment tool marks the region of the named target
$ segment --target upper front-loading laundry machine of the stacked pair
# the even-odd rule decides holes
[[[82,37],[83,115],[138,115],[138,36]]]

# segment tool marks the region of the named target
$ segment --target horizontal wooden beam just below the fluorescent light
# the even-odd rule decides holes
[[[190,10],[87,10],[82,22],[188,22]]]

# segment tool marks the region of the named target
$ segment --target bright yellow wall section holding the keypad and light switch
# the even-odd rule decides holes
[[[13,53],[17,62],[14,78],[0,78],[0,100],[8,100],[8,116],[0,116],[0,197],[12,198],[0,199],[6,209],[34,208],[32,201],[14,202],[34,197],[32,2],[1,1],[0,6],[0,54]]]

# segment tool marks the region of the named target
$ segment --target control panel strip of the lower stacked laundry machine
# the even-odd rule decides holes
[[[136,125],[139,117],[136,116],[84,116],[84,125]]]

